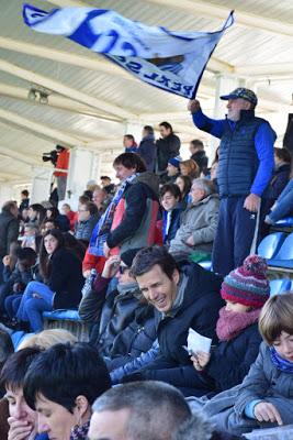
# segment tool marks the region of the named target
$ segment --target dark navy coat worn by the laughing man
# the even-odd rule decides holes
[[[219,276],[196,263],[181,263],[179,266],[188,278],[183,300],[174,315],[161,317],[157,337],[161,358],[176,365],[184,365],[190,363],[190,356],[182,346],[187,345],[189,328],[216,342],[216,321],[224,300],[219,295]]]

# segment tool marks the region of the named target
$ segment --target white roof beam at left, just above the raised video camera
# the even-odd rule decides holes
[[[0,119],[9,124],[16,125],[22,131],[30,133],[37,133],[38,138],[50,139],[54,142],[64,143],[66,146],[84,145],[80,139],[74,138],[69,134],[52,129],[47,125],[35,122],[31,119],[23,118],[9,110],[0,108]]]

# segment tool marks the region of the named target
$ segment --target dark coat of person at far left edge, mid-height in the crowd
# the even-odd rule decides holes
[[[18,240],[19,220],[10,212],[0,213],[0,258],[9,254],[10,243]]]

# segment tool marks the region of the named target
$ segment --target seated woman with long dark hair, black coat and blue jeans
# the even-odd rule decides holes
[[[43,237],[40,272],[43,283],[27,284],[16,315],[19,321],[29,322],[35,332],[43,330],[43,311],[76,308],[81,298],[81,261],[65,248],[64,235],[58,229],[49,230]]]

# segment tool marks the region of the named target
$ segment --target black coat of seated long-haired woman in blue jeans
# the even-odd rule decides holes
[[[81,261],[69,250],[59,249],[49,261],[50,272],[46,284],[55,293],[54,309],[76,308],[84,283]]]

